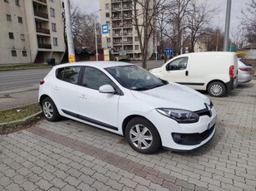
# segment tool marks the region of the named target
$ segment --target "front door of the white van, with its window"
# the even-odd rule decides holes
[[[178,57],[168,62],[163,71],[163,79],[180,84],[188,83],[188,57]]]

